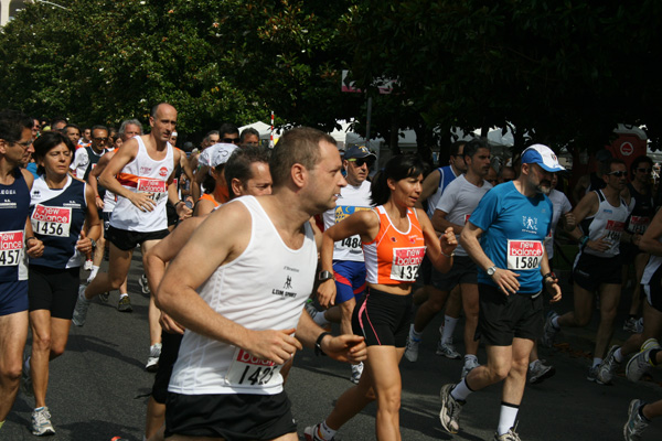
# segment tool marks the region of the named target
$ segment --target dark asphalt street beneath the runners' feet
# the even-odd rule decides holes
[[[46,401],[57,431],[51,440],[108,441],[116,435],[142,439],[145,395],[150,391],[153,375],[143,369],[149,345],[148,299],[139,293],[137,283],[141,272],[139,252],[135,260],[129,278],[134,312],[117,312],[117,292],[111,293],[108,304],[95,300],[86,325],[72,329],[66,353],[51,364]],[[567,311],[570,300],[566,295],[556,310]],[[616,340],[620,342],[627,337],[620,329],[624,308],[621,304],[617,321]],[[440,323],[439,316],[426,330],[419,361],[413,364],[404,359],[402,364],[403,440],[491,440],[499,418],[500,386],[469,397],[458,435],[451,437],[441,429],[439,388],[459,378],[461,362],[435,355]],[[633,385],[620,376],[615,386],[598,386],[585,379],[596,325],[594,320],[588,330],[562,334],[558,341],[567,345],[541,349],[541,356],[556,366],[557,374],[542,385],[527,387],[517,428],[523,440],[620,440],[629,401],[662,397],[659,383]],[[460,340],[460,332],[456,332],[456,341]],[[460,352],[462,346],[458,343]],[[479,358],[484,361],[482,349]],[[316,357],[310,349],[297,354],[286,389],[300,434],[306,426],[321,421],[332,409],[338,396],[351,386],[349,376],[349,366]],[[661,381],[662,372],[658,370],[654,379]],[[28,429],[32,406],[33,399],[21,392],[0,431],[0,440],[34,439]],[[374,421],[372,405],[343,427],[339,438],[374,440]],[[654,421],[642,439],[662,439],[662,420]]]

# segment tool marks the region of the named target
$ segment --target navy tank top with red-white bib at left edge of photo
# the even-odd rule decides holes
[[[25,220],[30,191],[20,169],[14,169],[13,175],[13,184],[0,184],[0,282],[28,280]]]

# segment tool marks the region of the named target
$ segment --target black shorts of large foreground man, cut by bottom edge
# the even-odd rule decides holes
[[[273,440],[296,433],[291,404],[277,395],[180,395],[168,394],[166,438],[222,438],[226,441]]]

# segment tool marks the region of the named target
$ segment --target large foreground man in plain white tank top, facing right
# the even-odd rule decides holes
[[[308,220],[334,207],[346,184],[335,141],[290,130],[269,166],[273,194],[210,214],[159,286],[158,306],[186,329],[170,380],[167,439],[295,441],[281,366],[301,343],[340,361],[365,358],[363,337],[332,337],[303,311],[317,268]]]

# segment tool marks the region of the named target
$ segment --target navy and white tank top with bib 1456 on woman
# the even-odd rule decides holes
[[[76,268],[84,256],[76,249],[87,213],[84,182],[67,178],[64,189],[52,190],[44,178],[34,181],[30,220],[34,235],[44,243],[44,254],[30,265],[49,268]]]

